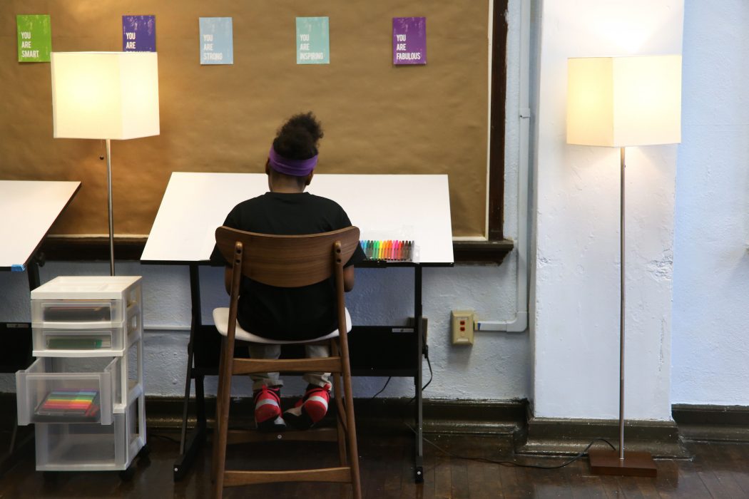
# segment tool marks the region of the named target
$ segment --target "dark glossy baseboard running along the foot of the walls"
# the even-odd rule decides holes
[[[0,427],[13,425],[16,395],[0,394]],[[215,400],[206,399],[209,423]],[[285,405],[293,400],[285,399]],[[233,418],[252,423],[252,398],[232,401]],[[357,426],[372,431],[410,432],[416,408],[409,399],[356,399]],[[146,397],[148,428],[176,431],[181,428],[183,400],[180,397]],[[189,402],[189,426],[195,424],[195,401]],[[527,400],[487,402],[481,400],[431,400],[423,403],[425,434],[494,435],[512,438],[518,453],[574,455],[595,438],[619,442],[616,420],[552,419],[528,416]],[[682,439],[703,441],[749,441],[749,407],[726,405],[674,405],[673,421],[629,420],[625,426],[625,450],[645,451],[654,457],[685,458],[689,453]],[[596,444],[596,447],[606,447]]]

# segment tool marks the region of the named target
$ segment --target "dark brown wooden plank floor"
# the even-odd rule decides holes
[[[150,432],[149,463],[140,463],[135,477],[122,482],[115,472],[43,474],[34,471],[33,444],[0,480],[0,498],[207,498],[210,497],[210,453],[203,451],[188,477],[172,481],[178,435]],[[427,435],[455,456],[512,460],[510,442],[480,436]],[[2,439],[5,440],[5,439]],[[229,467],[259,456],[273,465],[295,459],[308,465],[330,462],[330,444],[264,444],[234,447]],[[270,446],[270,447],[268,447]],[[596,477],[586,459],[565,468],[541,470],[458,459],[425,444],[425,480],[413,483],[413,435],[360,434],[362,486],[367,499],[388,498],[749,498],[749,444],[686,442],[692,460],[658,460],[658,478]],[[296,450],[295,450],[296,449]],[[518,462],[554,465],[559,458],[517,457]],[[331,462],[332,463],[332,462]],[[338,498],[339,487],[327,484],[282,484],[226,489],[226,498]]]

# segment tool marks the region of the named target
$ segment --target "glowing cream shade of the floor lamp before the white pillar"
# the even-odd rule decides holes
[[[678,144],[682,57],[567,61],[567,143],[625,147]]]

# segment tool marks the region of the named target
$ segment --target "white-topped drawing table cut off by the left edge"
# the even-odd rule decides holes
[[[0,270],[24,272],[29,291],[39,287],[37,250],[49,227],[76,195],[80,182],[0,180]],[[0,323],[0,372],[15,373],[31,364],[31,324]],[[13,426],[0,475],[13,465],[18,425]],[[31,433],[29,436],[33,436]]]

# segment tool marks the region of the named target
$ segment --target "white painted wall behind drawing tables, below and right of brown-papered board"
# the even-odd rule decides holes
[[[508,83],[506,120],[505,233],[518,237],[518,150],[520,88],[520,0],[509,2]],[[428,344],[434,381],[424,395],[434,399],[509,400],[530,397],[530,342],[527,333],[477,333],[473,346],[452,346],[449,316],[453,309],[473,309],[485,320],[512,320],[517,310],[518,255],[509,254],[501,266],[457,265],[424,269],[423,306],[428,317]],[[142,266],[118,263],[118,275],[142,275],[145,306],[145,390],[149,396],[181,397],[189,337],[189,275],[181,266]],[[48,263],[41,281],[57,275],[108,275],[108,263]],[[348,296],[357,324],[402,323],[413,314],[413,274],[405,269],[360,269]],[[203,322],[210,311],[225,306],[219,269],[201,269]],[[28,321],[28,284],[25,275],[0,272],[0,321]],[[425,381],[428,366],[424,363]],[[301,393],[301,382],[290,379],[285,394]],[[369,397],[384,378],[356,378],[357,397]],[[14,391],[13,375],[0,374],[0,391]],[[207,380],[208,393],[215,380]],[[249,383],[234,384],[234,394],[251,394]],[[413,397],[412,379],[393,379],[380,397]]]

